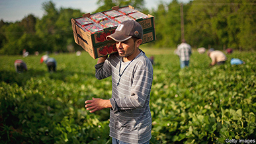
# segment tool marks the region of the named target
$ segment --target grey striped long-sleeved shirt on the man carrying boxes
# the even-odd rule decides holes
[[[153,81],[153,67],[142,50],[134,60],[122,68],[118,53],[111,54],[104,63],[95,65],[97,79],[112,76],[110,103],[110,137],[126,143],[145,143],[151,138],[149,99]],[[121,64],[122,65],[122,64]],[[119,85],[117,85],[120,78]]]

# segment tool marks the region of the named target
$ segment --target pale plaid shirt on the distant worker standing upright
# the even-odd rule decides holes
[[[185,42],[181,43],[177,48],[177,55],[181,61],[189,61],[191,57],[191,46]]]

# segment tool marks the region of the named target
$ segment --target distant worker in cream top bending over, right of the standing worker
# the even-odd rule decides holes
[[[214,65],[222,65],[226,62],[227,57],[223,52],[220,52],[219,50],[214,50],[213,48],[210,48],[210,50],[207,51],[207,55],[212,59],[212,62],[210,63],[211,66]]]

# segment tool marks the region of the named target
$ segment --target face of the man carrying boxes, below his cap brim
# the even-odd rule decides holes
[[[116,42],[116,48],[120,57],[129,57],[136,50],[135,42],[132,38],[124,42]]]

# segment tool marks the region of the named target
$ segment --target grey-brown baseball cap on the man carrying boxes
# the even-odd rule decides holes
[[[107,40],[113,39],[116,42],[124,42],[129,38],[142,39],[143,30],[139,22],[135,20],[126,20],[118,24],[114,34],[107,36]]]

